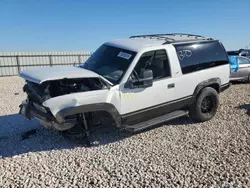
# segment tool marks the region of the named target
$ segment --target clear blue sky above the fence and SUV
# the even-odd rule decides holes
[[[244,48],[250,0],[0,0],[0,52],[93,52],[106,41],[159,33]]]

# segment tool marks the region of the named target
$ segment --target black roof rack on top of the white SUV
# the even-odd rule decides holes
[[[183,37],[181,40],[176,40],[171,37]],[[163,44],[169,44],[169,43],[175,43],[175,42],[180,42],[180,41],[190,41],[190,40],[213,40],[212,38],[207,38],[201,35],[195,35],[195,34],[188,34],[188,33],[167,33],[167,34],[152,34],[152,35],[135,35],[131,36],[129,38],[161,38],[165,39],[165,42]],[[189,37],[192,37],[191,39]]]

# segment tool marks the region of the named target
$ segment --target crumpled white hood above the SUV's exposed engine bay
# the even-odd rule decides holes
[[[19,74],[25,80],[41,84],[49,80],[60,80],[64,78],[102,78],[104,81],[112,85],[110,81],[101,75],[84,69],[82,67],[45,67],[32,68],[25,70]]]

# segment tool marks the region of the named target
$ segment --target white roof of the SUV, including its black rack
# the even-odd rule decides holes
[[[130,38],[117,39],[106,42],[105,44],[124,48],[131,51],[140,51],[142,48],[159,46],[164,44],[185,43],[190,41],[207,41],[212,38],[203,37],[200,35],[171,33],[171,34],[152,34],[138,35]]]

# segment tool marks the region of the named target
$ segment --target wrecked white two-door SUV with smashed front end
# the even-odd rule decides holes
[[[229,87],[230,65],[220,41],[173,33],[107,42],[82,66],[20,76],[28,95],[21,114],[88,136],[106,120],[132,132],[185,115],[207,121],[216,114],[218,93]]]

